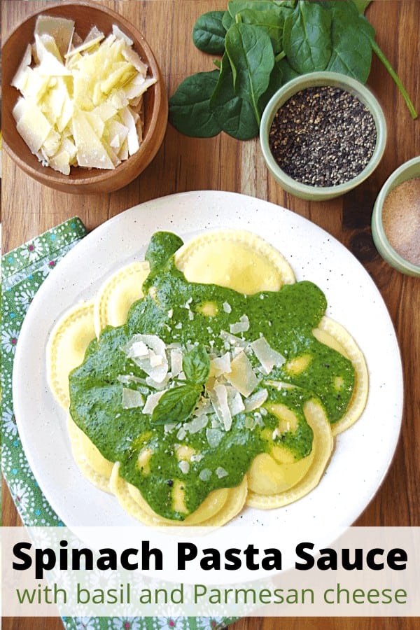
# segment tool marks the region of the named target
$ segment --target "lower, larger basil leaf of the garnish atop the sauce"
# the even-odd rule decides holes
[[[168,424],[188,420],[197,406],[201,391],[201,386],[189,384],[168,389],[153,409],[152,423]]]

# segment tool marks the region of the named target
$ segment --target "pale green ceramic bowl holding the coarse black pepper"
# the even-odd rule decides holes
[[[360,102],[367,107],[367,109],[369,109],[374,118],[374,123],[377,129],[377,142],[372,158],[370,158],[370,161],[363,171],[358,174],[358,176],[353,177],[353,179],[349,179],[349,181],[346,181],[345,183],[338,184],[337,186],[309,186],[291,178],[279,167],[269,149],[269,130],[272,126],[276,111],[286,101],[288,101],[290,97],[293,97],[294,94],[307,87],[321,87],[328,85],[332,87],[340,87],[342,90],[350,92],[356,96]],[[365,87],[365,85],[353,78],[337,72],[311,72],[290,80],[274,94],[262,113],[260,124],[260,145],[262,148],[262,155],[264,155],[269,172],[272,174],[274,179],[279,182],[281,188],[302,199],[323,201],[332,199],[332,197],[344,195],[344,193],[347,193],[352,188],[355,188],[355,186],[358,186],[362,181],[369,177],[370,174],[372,174],[374,169],[376,169],[384,153],[385,144],[386,122],[384,113],[382,112],[377,99],[374,97],[372,92]]]

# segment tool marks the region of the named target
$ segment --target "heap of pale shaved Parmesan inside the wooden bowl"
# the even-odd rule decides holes
[[[38,16],[34,45],[27,46],[12,85],[38,105],[60,136],[52,145],[54,134],[38,111],[25,111],[18,131],[43,165],[63,174],[73,165],[115,169],[139,150],[142,97],[156,80],[147,76],[148,66],[132,45],[116,26],[106,38],[92,27],[82,41],[73,20]],[[21,105],[15,113],[19,123]],[[64,137],[70,137],[76,151],[61,146]]]

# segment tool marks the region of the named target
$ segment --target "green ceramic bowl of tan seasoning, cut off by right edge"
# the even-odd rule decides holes
[[[420,266],[405,260],[405,258],[402,258],[402,256],[395,251],[386,238],[384,225],[382,223],[382,208],[384,207],[386,196],[391,193],[391,190],[393,190],[395,186],[398,186],[408,179],[414,179],[415,177],[420,177],[420,156],[408,160],[408,162],[404,162],[404,164],[398,167],[398,169],[395,169],[388,177],[374,202],[372,212],[372,237],[377,251],[379,251],[382,258],[384,258],[389,265],[398,269],[402,274],[420,277]]]

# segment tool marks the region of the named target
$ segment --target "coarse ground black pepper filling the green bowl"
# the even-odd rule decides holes
[[[269,148],[279,167],[309,186],[337,186],[363,171],[376,126],[367,107],[339,87],[307,87],[274,116]]]

